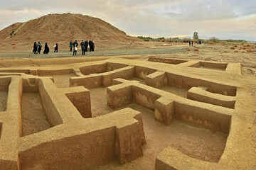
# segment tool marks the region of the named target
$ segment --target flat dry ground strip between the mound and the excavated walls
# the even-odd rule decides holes
[[[50,52],[49,55],[33,55],[30,46],[17,47],[12,49],[12,45],[6,45],[0,49],[0,60],[28,60],[30,59],[47,59],[47,58],[63,58],[73,57],[73,53],[68,50],[68,42],[63,42],[64,45],[58,53]],[[102,44],[105,44],[102,43]],[[9,47],[10,46],[10,47]],[[86,52],[85,57],[82,57],[80,49],[76,58],[90,58],[97,60],[100,57],[136,55],[141,60],[146,60],[149,56],[154,57],[171,57],[182,60],[206,60],[213,62],[240,62],[242,64],[242,73],[256,75],[256,44],[241,44],[236,42],[225,42],[218,44],[202,44],[189,46],[188,43],[175,42],[120,42],[110,44],[105,47],[95,45],[95,52]],[[232,48],[232,49],[231,49]],[[194,51],[198,49],[198,51]],[[235,50],[233,50],[235,49]],[[75,57],[73,57],[75,58]],[[96,59],[95,59],[96,58]],[[28,61],[27,61],[28,62]],[[75,61],[70,61],[71,63]],[[7,64],[8,62],[6,62]],[[0,67],[8,67],[8,65],[0,63]],[[31,62],[30,65],[35,64]],[[54,62],[52,64],[55,64]],[[14,64],[12,64],[14,66]],[[41,64],[43,65],[43,62]],[[10,65],[9,65],[10,67]]]

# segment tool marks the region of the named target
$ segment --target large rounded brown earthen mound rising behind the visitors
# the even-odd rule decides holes
[[[10,33],[13,33],[10,35]],[[94,40],[95,42],[131,42],[124,31],[115,28],[100,18],[81,14],[50,14],[25,23],[14,23],[0,31],[1,49],[3,45],[31,44],[41,42],[69,42],[69,40]],[[61,43],[60,43],[61,44]],[[31,45],[29,45],[31,47]]]

